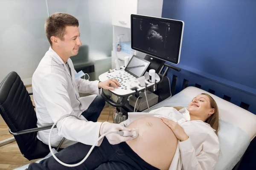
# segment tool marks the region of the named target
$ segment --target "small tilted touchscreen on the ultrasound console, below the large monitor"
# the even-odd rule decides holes
[[[137,77],[141,77],[143,71],[145,71],[146,67],[149,63],[138,59],[137,57],[132,57],[129,64],[126,66],[125,71],[129,71],[132,74],[136,75]]]

